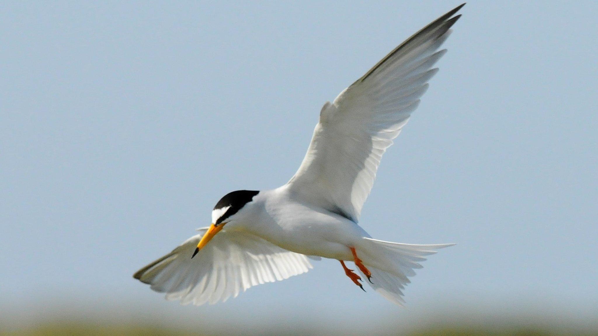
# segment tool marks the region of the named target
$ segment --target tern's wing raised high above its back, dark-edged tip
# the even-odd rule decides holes
[[[465,4],[463,4],[465,5]],[[380,159],[401,132],[446,53],[460,5],[415,33],[363,77],[325,103],[303,163],[288,188],[358,221]]]

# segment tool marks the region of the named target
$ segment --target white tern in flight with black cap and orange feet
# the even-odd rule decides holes
[[[167,300],[196,306],[227,301],[255,285],[288,279],[321,258],[340,261],[359,288],[367,283],[402,306],[421,261],[454,244],[413,245],[374,239],[358,225],[382,155],[401,133],[463,5],[425,26],[319,114],[307,154],[294,176],[273,190],[237,190],[172,252],[133,274]],[[347,267],[353,262],[355,270]]]

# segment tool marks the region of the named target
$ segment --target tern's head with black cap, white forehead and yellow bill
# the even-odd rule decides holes
[[[203,246],[206,246],[206,244],[216,236],[216,233],[224,228],[224,225],[228,224],[229,227],[231,225],[242,225],[245,222],[243,221],[243,218],[245,217],[244,212],[246,212],[245,206],[247,203],[251,202],[254,199],[254,196],[258,193],[260,192],[254,190],[237,190],[220,198],[212,210],[212,224],[210,224],[208,231],[206,231],[202,240],[197,244],[193,256],[195,256]],[[193,258],[193,256],[191,258]]]

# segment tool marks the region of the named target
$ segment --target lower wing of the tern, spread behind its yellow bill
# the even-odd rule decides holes
[[[279,248],[252,234],[222,230],[195,258],[191,255],[208,228],[133,275],[166,293],[167,300],[196,306],[237,297],[266,282],[306,273],[307,256]]]

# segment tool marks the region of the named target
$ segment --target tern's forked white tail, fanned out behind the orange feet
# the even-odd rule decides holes
[[[371,271],[371,288],[379,292],[387,300],[392,301],[399,306],[403,306],[402,289],[410,283],[408,277],[414,276],[414,268],[422,268],[420,261],[425,261],[424,256],[437,253],[434,250],[447,248],[454,244],[438,245],[413,245],[403,243],[385,242],[371,238],[364,238],[365,251],[363,253],[364,264]],[[367,246],[367,247],[366,247]],[[361,271],[357,268],[359,273]],[[362,279],[366,279],[365,274],[361,273]]]

